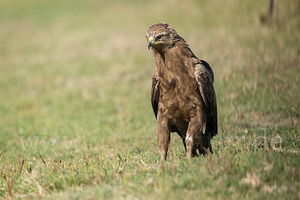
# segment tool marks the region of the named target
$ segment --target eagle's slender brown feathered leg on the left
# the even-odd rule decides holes
[[[170,146],[170,123],[166,117],[157,114],[156,138],[160,150],[160,161],[166,159],[167,150]]]

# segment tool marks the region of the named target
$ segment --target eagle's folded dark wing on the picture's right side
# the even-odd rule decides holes
[[[211,136],[214,136],[217,134],[217,110],[213,87],[213,72],[206,61],[197,60],[194,73],[207,110],[206,131],[210,132]]]

